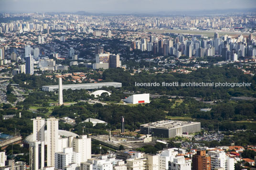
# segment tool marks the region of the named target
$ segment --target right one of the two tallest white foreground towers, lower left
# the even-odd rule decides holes
[[[58,143],[58,119],[47,119],[47,167],[55,165],[55,152],[57,152]]]

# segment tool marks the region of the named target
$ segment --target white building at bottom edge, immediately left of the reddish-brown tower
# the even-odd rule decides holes
[[[191,170],[191,162],[185,160],[184,156],[178,156],[169,162],[168,167],[168,170]]]

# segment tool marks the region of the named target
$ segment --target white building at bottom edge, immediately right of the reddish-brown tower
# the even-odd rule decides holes
[[[218,168],[224,168],[224,170],[235,170],[234,158],[226,156],[224,151],[211,150],[208,151],[208,155],[211,156],[211,170]]]

